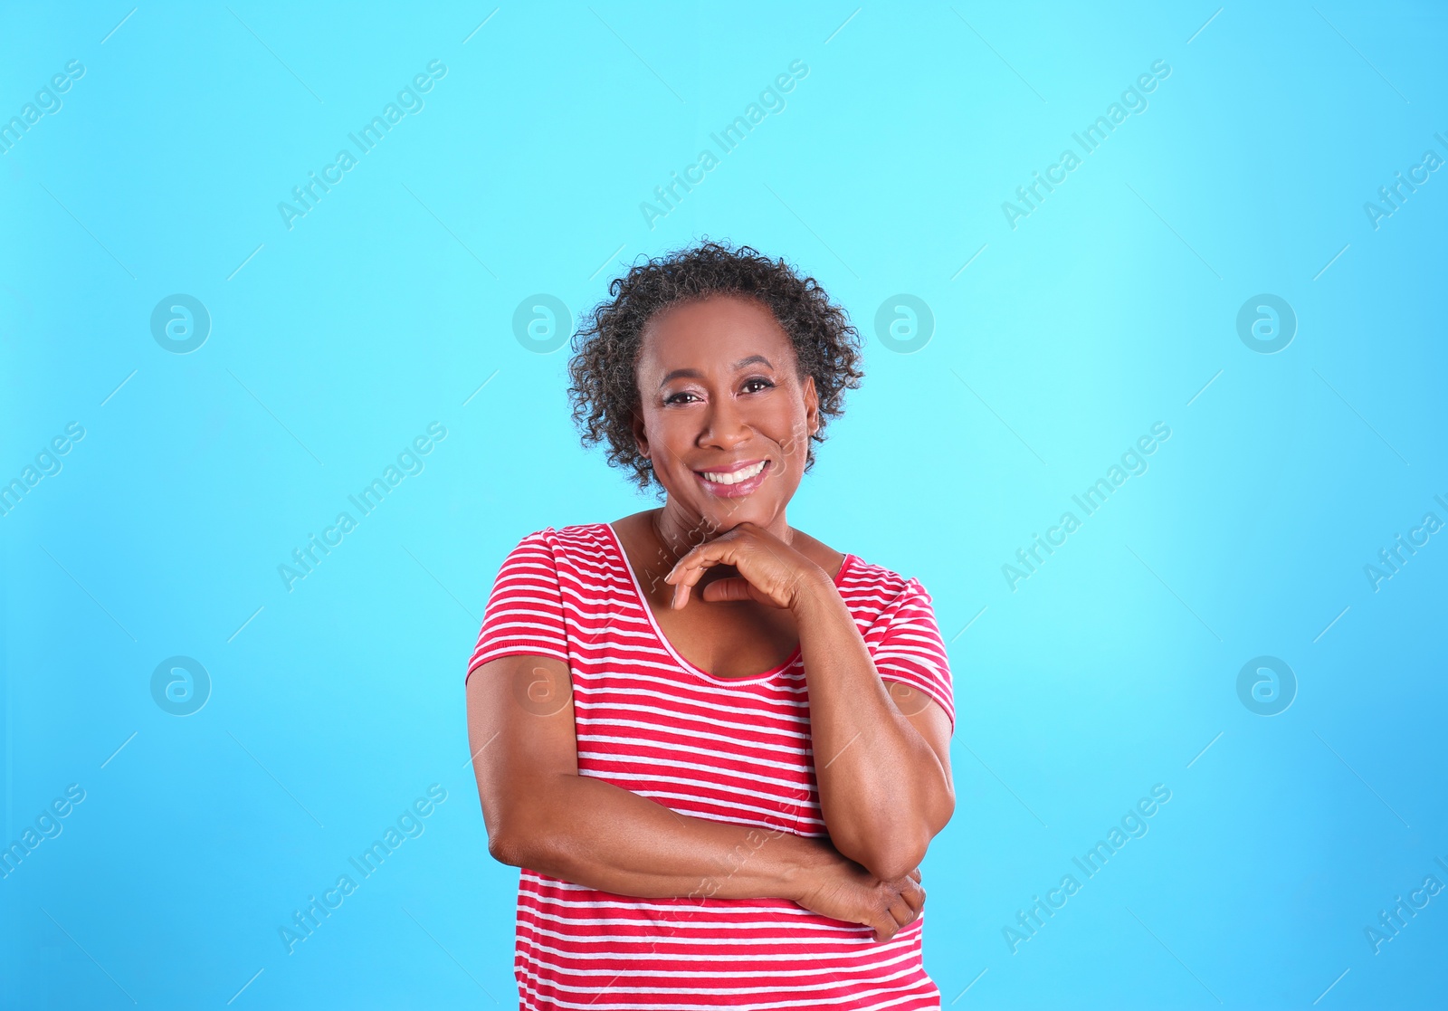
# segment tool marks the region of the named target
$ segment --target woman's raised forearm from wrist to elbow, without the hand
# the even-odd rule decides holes
[[[833,584],[802,595],[796,618],[830,839],[880,876],[905,873],[950,815],[948,775],[891,701]]]

